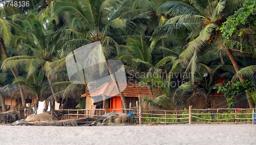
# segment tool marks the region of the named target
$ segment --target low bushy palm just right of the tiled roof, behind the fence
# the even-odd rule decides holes
[[[154,86],[157,89],[156,99],[152,100],[144,97],[143,102],[168,110],[182,109],[191,99],[205,96],[205,93],[196,88],[190,81],[181,84],[179,87],[177,85],[173,87],[170,76],[168,76],[167,80],[163,80],[158,73],[154,73],[152,76],[143,79],[139,85],[146,83],[156,84]]]

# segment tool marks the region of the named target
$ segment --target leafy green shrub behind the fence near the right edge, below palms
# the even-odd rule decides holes
[[[223,93],[227,99],[228,108],[232,108],[234,106],[233,102],[235,101],[233,100],[233,97],[235,95],[245,92],[246,90],[250,89],[251,86],[254,86],[254,85],[255,84],[253,81],[248,81],[248,80],[245,80],[243,82],[237,81],[236,83],[232,83],[231,81],[229,81],[223,87],[219,86],[217,93],[220,93],[220,92]]]

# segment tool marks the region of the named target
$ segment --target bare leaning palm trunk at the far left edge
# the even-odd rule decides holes
[[[3,39],[0,37],[0,45],[1,45],[1,49],[2,49],[2,52],[4,53],[5,55],[5,58],[8,59],[9,56],[6,52],[6,49],[5,49],[5,44],[4,44],[4,41]],[[16,72],[14,71],[14,69],[12,67],[10,67],[11,71],[12,71],[12,74],[14,76],[14,78],[17,78],[18,75],[16,74]],[[26,106],[26,103],[25,103],[25,96],[24,96],[24,91],[23,91],[23,88],[22,88],[22,85],[20,85],[18,83],[18,87],[19,87],[19,91],[20,91],[20,96],[22,96],[22,106],[25,107]]]

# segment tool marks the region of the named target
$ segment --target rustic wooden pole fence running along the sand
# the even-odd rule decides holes
[[[61,109],[66,111],[68,118],[97,117],[105,114],[105,109]],[[125,109],[113,109],[125,110]],[[160,124],[182,124],[182,123],[252,123],[256,124],[254,115],[255,108],[220,108],[220,109],[192,109],[188,110],[142,110],[139,108],[126,109],[133,111],[132,118],[138,124],[160,123]],[[227,111],[227,112],[223,112]]]

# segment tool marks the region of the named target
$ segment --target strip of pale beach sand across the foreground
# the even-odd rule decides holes
[[[0,144],[255,144],[256,125],[0,126]]]

